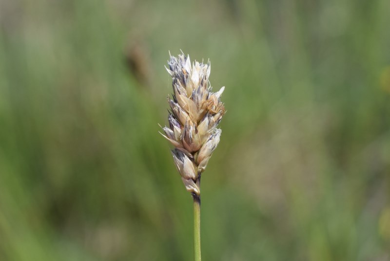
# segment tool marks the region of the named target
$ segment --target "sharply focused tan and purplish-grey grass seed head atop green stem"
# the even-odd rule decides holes
[[[168,98],[171,108],[169,127],[162,134],[175,149],[172,156],[177,171],[187,191],[200,195],[200,176],[206,169],[219,142],[221,130],[216,126],[225,113],[220,100],[225,87],[212,93],[209,85],[210,61],[191,65],[190,57],[180,54],[171,56],[166,68],[172,76],[174,94]]]

